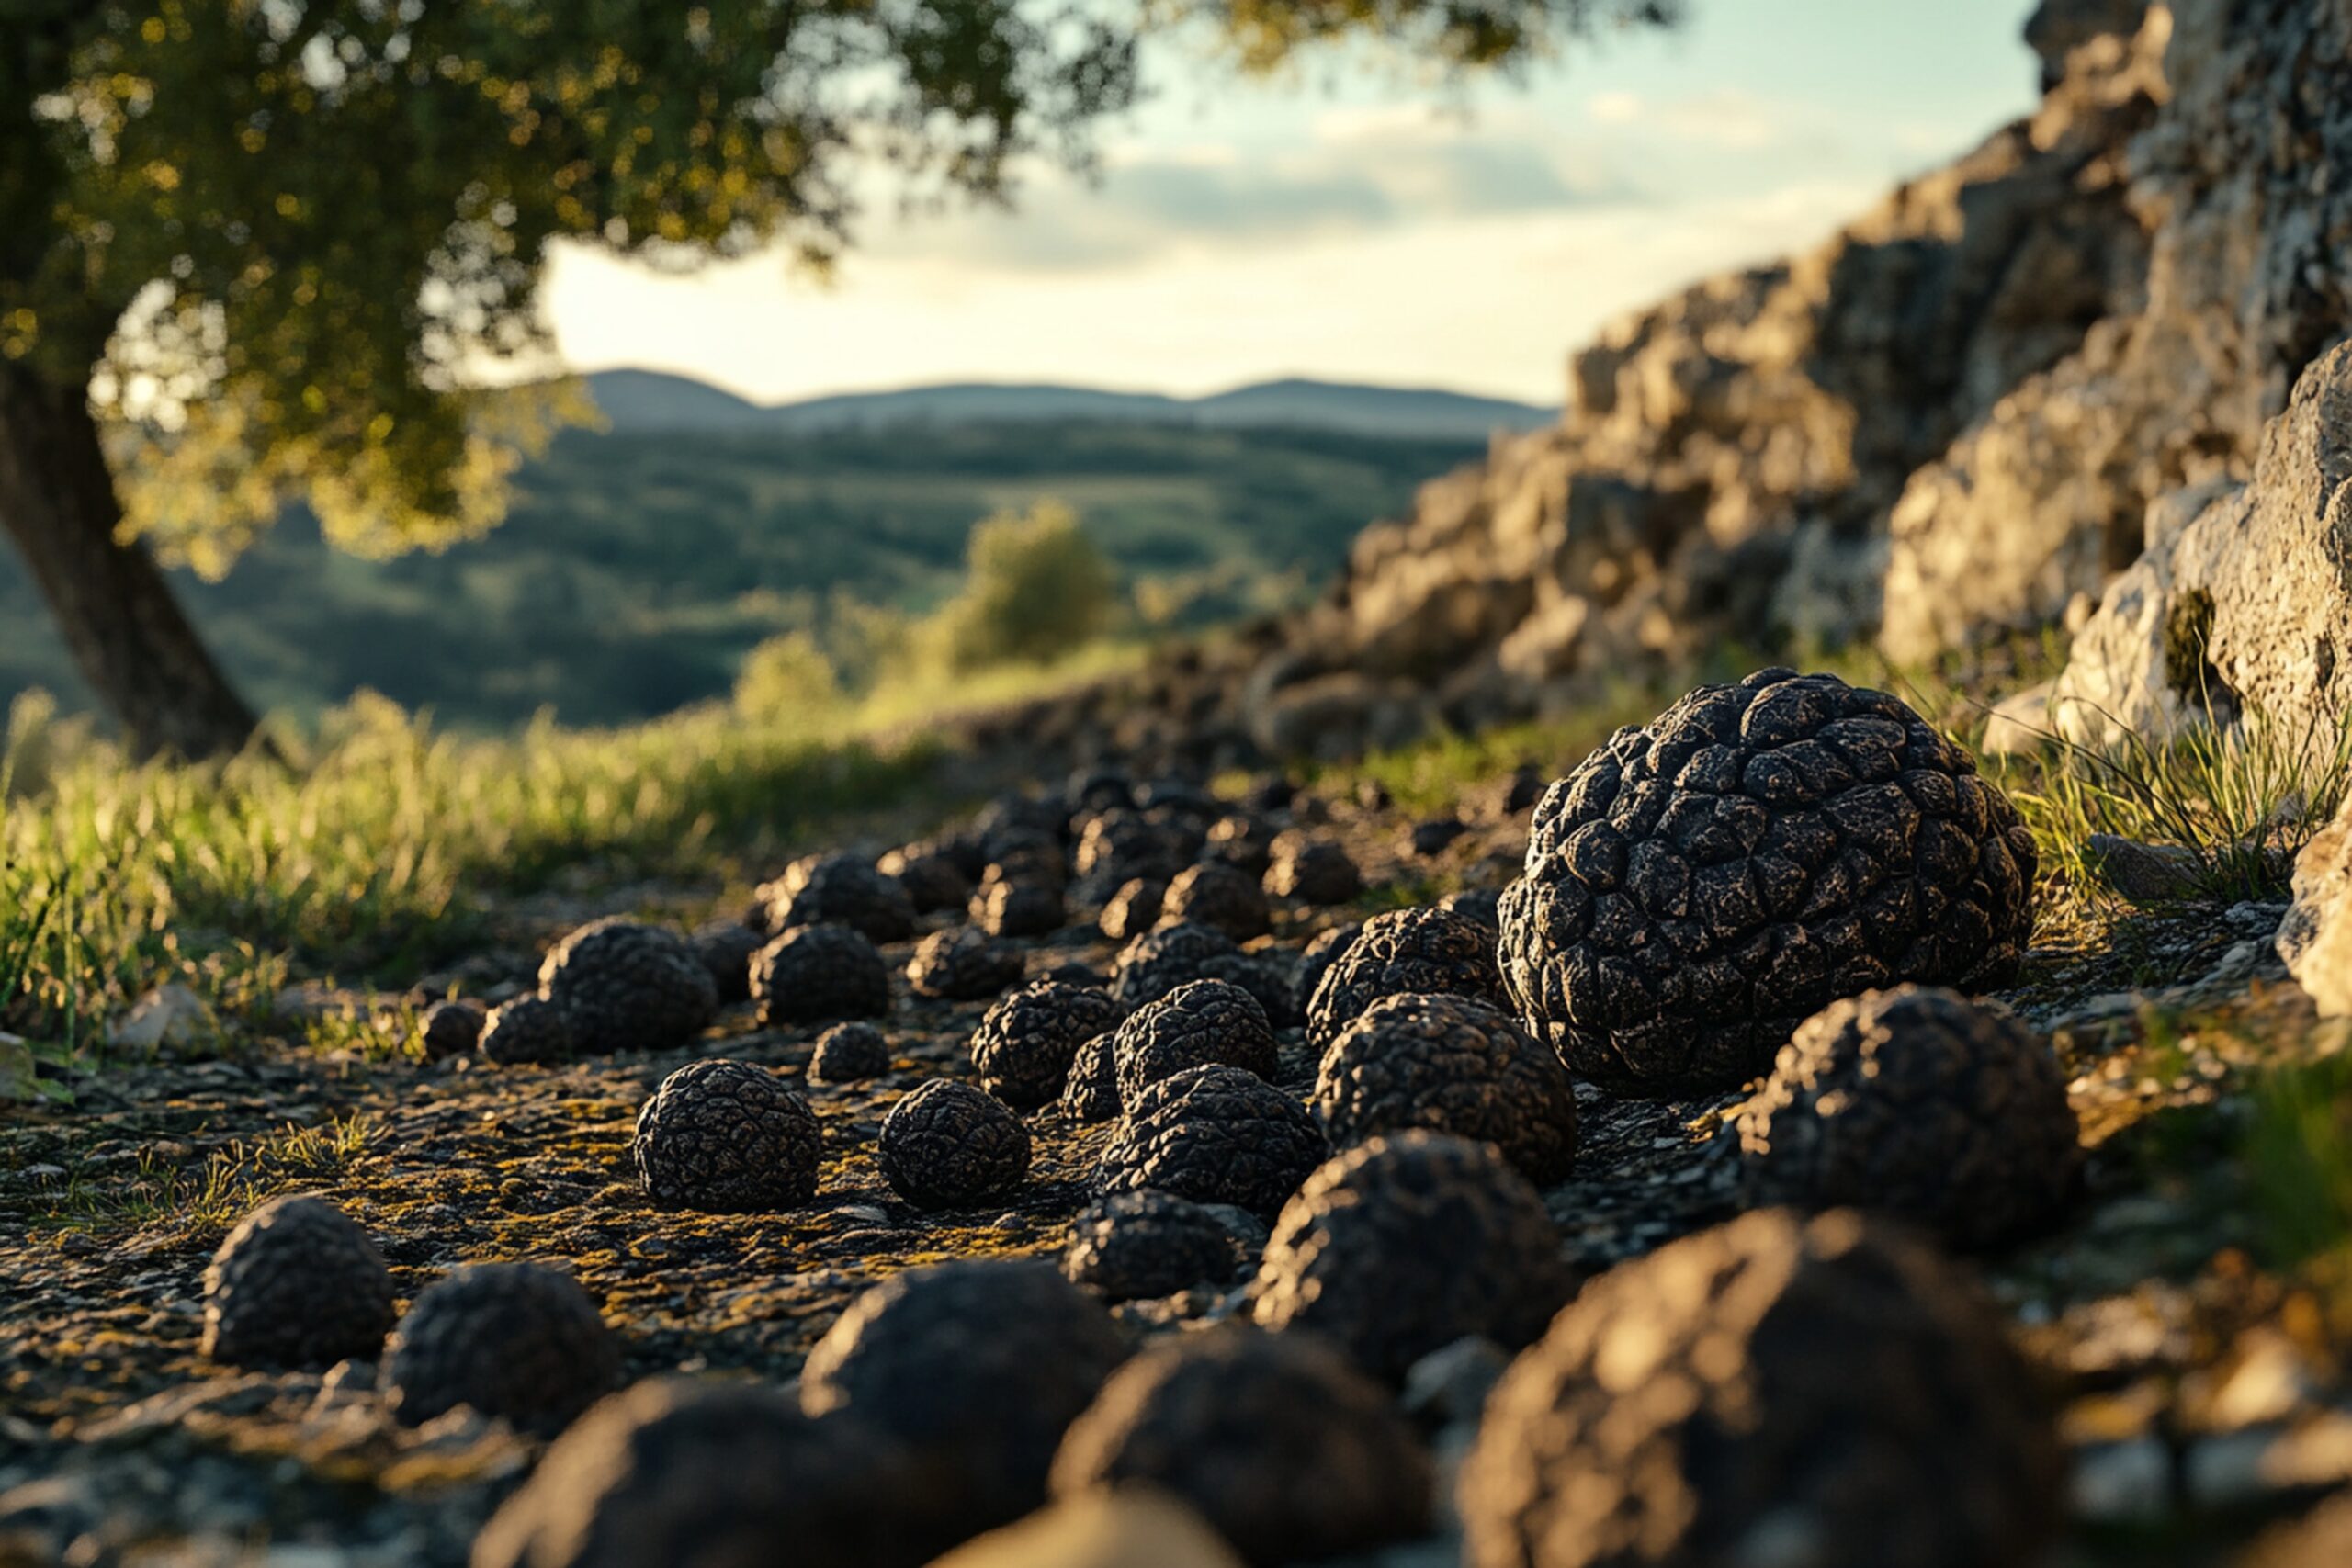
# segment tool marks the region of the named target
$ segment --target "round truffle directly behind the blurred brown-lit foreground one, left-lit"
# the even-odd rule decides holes
[[[1284,1204],[1251,1312],[1402,1382],[1465,1335],[1519,1349],[1571,1288],[1559,1227],[1524,1175],[1484,1143],[1397,1133],[1338,1154]]]

